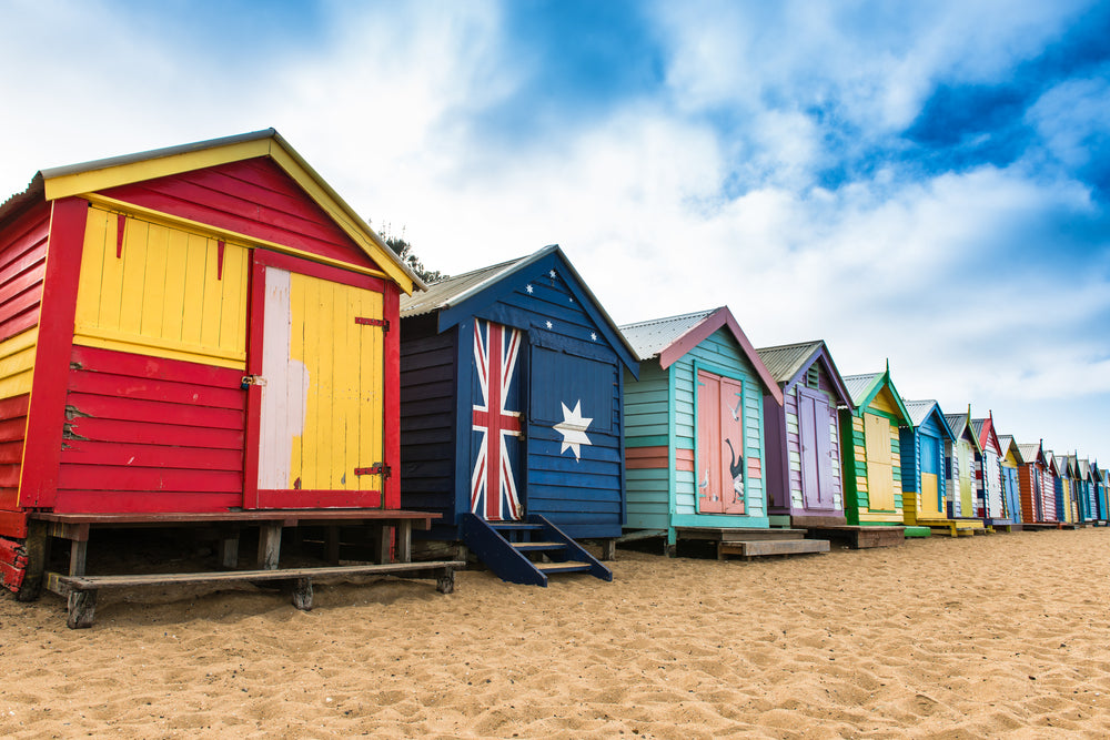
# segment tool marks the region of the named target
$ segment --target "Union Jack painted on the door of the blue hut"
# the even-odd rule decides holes
[[[482,403],[474,405],[473,428],[481,440],[471,474],[471,511],[487,521],[521,518],[511,455],[517,445],[509,444],[522,436],[521,412],[505,408],[519,353],[519,331],[474,322],[474,367]]]

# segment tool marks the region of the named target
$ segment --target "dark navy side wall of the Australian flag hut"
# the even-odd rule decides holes
[[[401,508],[455,520],[455,339],[435,316],[401,323]],[[468,481],[467,481],[468,483]]]

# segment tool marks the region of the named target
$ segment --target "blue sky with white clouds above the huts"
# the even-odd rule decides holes
[[[268,126],[460,273],[889,358],[1110,465],[1110,3],[0,0],[0,200]]]

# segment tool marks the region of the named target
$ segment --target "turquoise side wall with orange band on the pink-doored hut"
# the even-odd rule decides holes
[[[670,491],[677,470],[672,469],[669,373],[659,363],[640,363],[639,379],[624,372],[625,487],[628,505],[626,526],[666,529],[669,526]],[[693,450],[683,450],[693,470]],[[676,458],[677,463],[677,458]]]

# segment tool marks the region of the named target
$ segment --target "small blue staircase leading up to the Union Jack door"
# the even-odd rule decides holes
[[[466,514],[463,541],[490,570],[511,584],[547,586],[548,576],[564,572],[588,572],[613,580],[612,570],[536,514],[525,521],[486,521]]]

